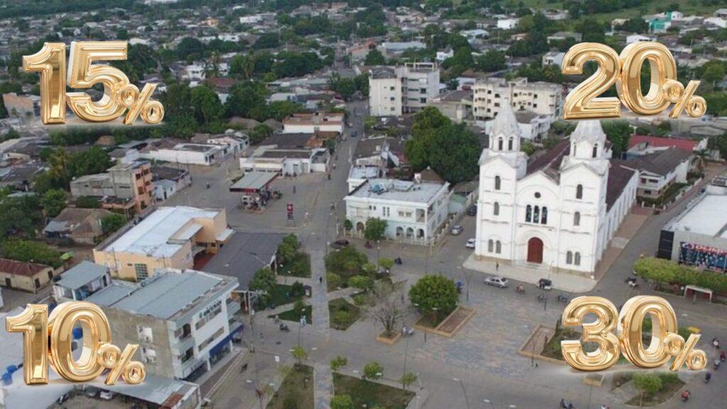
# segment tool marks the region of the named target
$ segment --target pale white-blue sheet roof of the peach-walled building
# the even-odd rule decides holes
[[[105,252],[138,253],[149,257],[171,257],[182,244],[170,242],[194,218],[214,218],[220,210],[196,207],[159,207],[121,237],[103,247]]]

